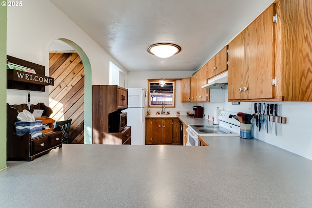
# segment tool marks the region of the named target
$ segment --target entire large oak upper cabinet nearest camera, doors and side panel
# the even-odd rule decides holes
[[[276,0],[234,38],[229,101],[312,101],[311,14],[312,0]]]

